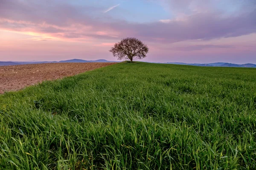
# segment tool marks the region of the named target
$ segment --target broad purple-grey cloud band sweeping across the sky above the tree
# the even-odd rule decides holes
[[[173,0],[171,2],[170,4],[186,7],[195,0]],[[219,12],[195,13],[184,17],[183,20],[168,20],[169,22],[166,23],[128,23],[125,20],[114,20],[111,17],[108,17],[108,21],[102,21],[88,14],[88,11],[93,10],[101,11],[102,9],[84,6],[81,8],[64,3],[52,3],[52,1],[49,1],[47,5],[47,3],[36,0],[2,0],[0,19],[11,20],[13,23],[0,22],[0,27],[15,31],[27,29],[63,38],[91,37],[117,40],[122,37],[139,37],[146,41],[169,43],[238,37],[256,32],[256,9],[235,16],[225,16]],[[116,32],[118,36],[99,35],[96,34],[97,31]]]

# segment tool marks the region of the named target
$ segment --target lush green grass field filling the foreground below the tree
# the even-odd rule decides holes
[[[256,69],[122,62],[0,95],[0,169],[256,169]]]

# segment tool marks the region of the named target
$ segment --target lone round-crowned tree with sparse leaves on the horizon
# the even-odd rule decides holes
[[[148,53],[148,46],[137,38],[125,38],[109,50],[117,59],[143,59]]]

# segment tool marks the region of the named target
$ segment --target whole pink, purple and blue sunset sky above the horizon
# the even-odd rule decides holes
[[[116,61],[125,37],[145,62],[256,64],[256,0],[0,0],[0,61]]]

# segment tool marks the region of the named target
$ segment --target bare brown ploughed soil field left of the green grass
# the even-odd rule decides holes
[[[0,66],[0,94],[5,91],[17,91],[44,80],[73,76],[113,64],[115,63],[89,62]]]

